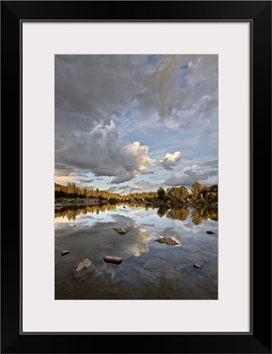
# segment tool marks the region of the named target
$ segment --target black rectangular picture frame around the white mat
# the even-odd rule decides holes
[[[250,333],[69,335],[20,332],[23,237],[20,26],[26,20],[251,23]],[[271,2],[2,1],[1,74],[1,352],[271,353]],[[235,197],[237,199],[237,194]]]

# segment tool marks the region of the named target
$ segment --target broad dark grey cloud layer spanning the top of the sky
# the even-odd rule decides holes
[[[75,124],[84,131],[128,107],[173,128],[217,108],[217,55],[57,55],[55,66],[57,147]]]

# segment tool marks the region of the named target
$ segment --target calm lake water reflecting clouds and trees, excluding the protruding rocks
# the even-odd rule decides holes
[[[117,227],[128,233],[118,234]],[[160,237],[177,244],[155,242]],[[62,256],[62,250],[70,253]],[[122,262],[106,263],[105,255]],[[75,278],[86,258],[92,265]],[[55,210],[55,298],[217,299],[217,209],[104,204]]]

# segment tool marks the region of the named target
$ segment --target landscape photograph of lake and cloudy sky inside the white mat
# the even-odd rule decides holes
[[[56,55],[55,299],[216,300],[218,230],[218,56]]]

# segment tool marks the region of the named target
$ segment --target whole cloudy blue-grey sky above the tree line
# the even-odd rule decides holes
[[[217,55],[56,55],[55,182],[218,183]]]

